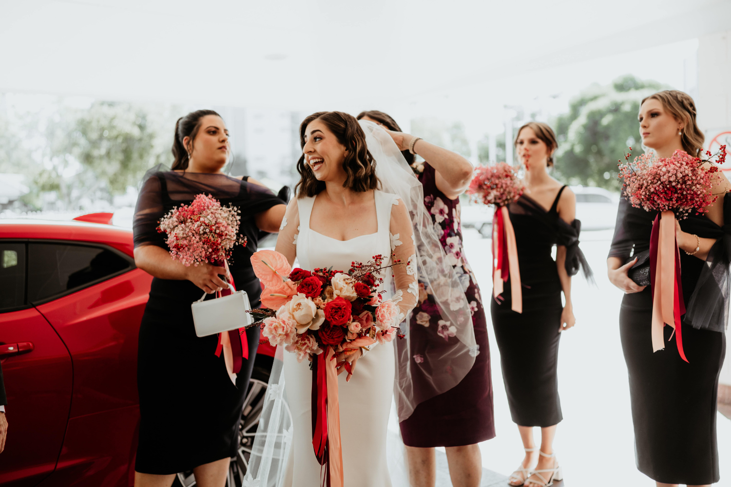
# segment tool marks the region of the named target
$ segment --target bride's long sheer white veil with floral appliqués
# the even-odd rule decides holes
[[[431,216],[423,204],[421,183],[385,130],[370,121],[360,120],[359,123],[366,133],[368,150],[376,161],[376,175],[382,185],[380,189],[385,193],[398,195],[409,211],[419,283],[433,289],[442,318],[449,321],[450,326],[454,326],[456,330],[455,340],[450,343],[450,347],[440,348],[439,354],[435,353],[433,356],[428,352],[423,353],[424,361],[417,364],[409,346],[410,316],[406,316],[401,323],[401,333],[406,337],[393,341],[394,398],[398,421],[403,421],[411,415],[417,404],[448,391],[463,379],[474,364],[477,343],[469,304],[458,276],[439,243],[438,235],[442,234],[442,229],[433,226]],[[392,235],[392,240],[398,240],[399,237],[398,234]],[[292,480],[292,473],[288,472],[292,468],[292,462],[288,460],[292,453],[293,429],[285,391],[283,356],[282,348],[278,347],[244,487],[281,487]],[[412,367],[421,367],[423,371],[428,371],[428,387],[422,385],[418,391],[415,390]]]

